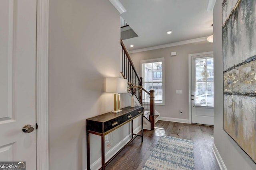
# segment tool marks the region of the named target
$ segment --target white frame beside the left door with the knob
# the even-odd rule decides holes
[[[37,0],[36,27],[36,169],[49,169],[48,154],[49,0]]]

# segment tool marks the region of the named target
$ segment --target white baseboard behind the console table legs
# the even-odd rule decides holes
[[[138,133],[139,131],[141,131],[141,126],[134,129],[133,133]],[[118,144],[116,144],[112,149],[108,150],[108,152],[105,153],[105,162],[107,162],[110,158],[112,158],[112,156],[114,156],[114,154],[116,154],[116,152],[118,152],[118,150],[120,150],[122,147],[124,147],[124,145],[126,145],[126,143],[128,143],[128,141],[130,141],[130,139],[131,139],[131,133],[129,135],[127,135]],[[92,169],[92,170],[98,170],[98,169],[100,169],[100,167],[101,167],[101,157],[98,158],[98,160],[96,160],[95,162],[93,162],[90,165],[90,169]],[[87,168],[85,170],[87,170]]]

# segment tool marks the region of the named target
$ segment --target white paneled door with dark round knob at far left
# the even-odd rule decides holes
[[[0,1],[0,161],[26,161],[26,170],[36,169],[36,5]]]

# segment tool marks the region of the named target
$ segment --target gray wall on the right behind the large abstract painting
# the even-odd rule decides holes
[[[222,2],[213,11],[214,25],[214,144],[228,170],[255,170],[256,164],[223,130]]]

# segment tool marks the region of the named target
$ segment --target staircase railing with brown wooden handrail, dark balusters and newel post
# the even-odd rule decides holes
[[[142,86],[142,78],[138,75],[135,70],[134,64],[128,54],[124,43],[121,39],[121,74],[128,80],[128,82],[135,82],[136,84]],[[142,88],[142,90],[137,90],[135,93],[136,99],[140,102],[140,105],[144,107],[144,119],[150,122],[150,130],[154,130],[156,120],[159,115],[155,114],[155,104],[154,104],[154,90],[149,90],[149,92]]]

